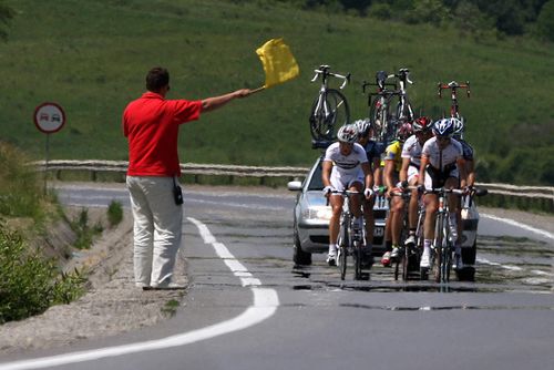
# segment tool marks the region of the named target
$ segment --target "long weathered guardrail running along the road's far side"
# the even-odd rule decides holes
[[[44,161],[33,162],[39,171],[91,171],[116,172],[124,174],[127,171],[126,161],[49,161],[45,168]],[[185,175],[209,175],[209,176],[239,176],[239,177],[305,177],[309,167],[259,167],[239,166],[226,164],[196,164],[182,163],[181,171]],[[540,198],[551,201],[554,204],[554,187],[552,186],[520,186],[510,184],[478,183],[489,189],[490,194]]]

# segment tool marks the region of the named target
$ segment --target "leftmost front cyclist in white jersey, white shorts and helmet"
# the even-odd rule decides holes
[[[322,161],[321,179],[324,183],[324,195],[331,204],[332,215],[329,222],[329,255],[327,263],[329,266],[337,264],[337,239],[340,228],[340,213],[345,199],[340,194],[331,192],[342,192],[349,189],[359,192],[371,197],[373,175],[368,163],[368,157],[363,147],[357,143],[358,130],[356,125],[348,124],[341,126],[337,133],[338,141],[327,148]],[[363,189],[365,188],[365,189]],[[351,197],[351,212],[353,214],[355,234],[361,234],[361,202],[360,197]]]

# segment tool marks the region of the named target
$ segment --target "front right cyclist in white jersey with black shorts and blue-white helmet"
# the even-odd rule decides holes
[[[421,256],[420,267],[429,268],[431,244],[434,238],[434,219],[439,208],[437,194],[433,188],[447,187],[459,188],[465,186],[465,162],[463,160],[462,144],[452,138],[454,134],[454,120],[442,119],[433,124],[434,137],[428,140],[423,145],[421,155],[420,173],[418,178],[419,186],[427,191],[424,195],[425,220],[423,224],[423,254]],[[456,230],[456,196],[450,194],[448,197],[450,207],[451,237],[458,239]],[[455,250],[459,255],[460,249]]]

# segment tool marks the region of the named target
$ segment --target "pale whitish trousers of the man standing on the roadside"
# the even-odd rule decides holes
[[[138,287],[172,280],[181,246],[183,208],[173,197],[173,177],[127,176],[134,218],[134,275]]]

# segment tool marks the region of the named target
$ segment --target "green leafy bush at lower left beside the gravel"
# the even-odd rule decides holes
[[[60,275],[53,260],[4,226],[0,223],[0,323],[41,314],[84,292],[78,271]]]

